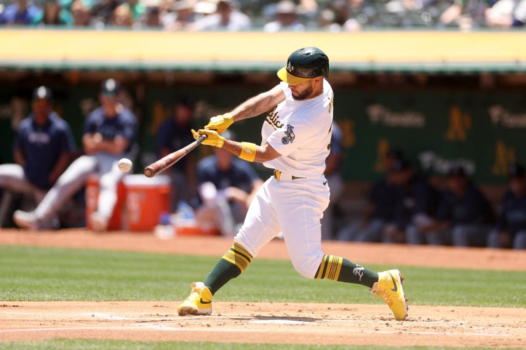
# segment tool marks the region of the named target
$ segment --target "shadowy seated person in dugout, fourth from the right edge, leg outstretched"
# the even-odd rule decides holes
[[[367,207],[363,216],[356,222],[338,231],[337,239],[355,242],[381,242],[383,230],[390,225],[398,199],[398,191],[392,179],[392,164],[402,158],[402,152],[391,149],[384,159],[386,176],[375,184],[369,192]],[[391,224],[392,225],[392,224]]]

